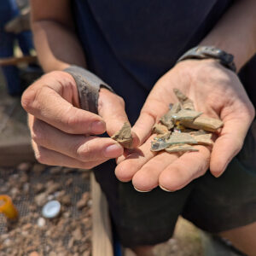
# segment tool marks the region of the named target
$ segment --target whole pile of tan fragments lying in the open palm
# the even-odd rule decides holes
[[[180,90],[173,90],[179,102],[170,104],[170,110],[160,118],[152,131],[157,134],[151,142],[151,151],[168,153],[198,151],[193,145],[212,146],[212,133],[223,126],[220,119],[202,117],[194,103]],[[210,132],[209,132],[210,131]]]

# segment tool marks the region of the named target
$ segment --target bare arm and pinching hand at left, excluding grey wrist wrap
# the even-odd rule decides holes
[[[79,108],[73,77],[62,70],[85,67],[84,51],[73,30],[69,0],[32,0],[32,31],[39,61],[47,73],[23,93],[29,113],[32,146],[39,162],[54,166],[92,168],[123,154],[110,136],[128,121],[123,100],[102,88],[98,115]],[[48,73],[49,72],[49,73]]]

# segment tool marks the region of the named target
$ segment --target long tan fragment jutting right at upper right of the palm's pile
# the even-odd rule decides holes
[[[218,131],[224,125],[220,119],[212,119],[204,116],[200,116],[195,120],[181,120],[180,122],[188,128],[212,132]]]

